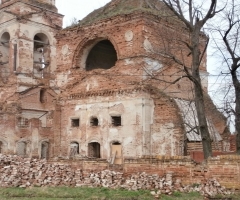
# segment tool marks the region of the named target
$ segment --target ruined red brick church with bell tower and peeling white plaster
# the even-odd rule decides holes
[[[183,71],[162,56],[180,54],[172,38],[187,33],[161,1],[112,0],[65,29],[62,19],[55,0],[1,1],[0,153],[121,164],[201,150],[192,83],[173,84]],[[231,151],[206,57],[200,73],[213,150]]]

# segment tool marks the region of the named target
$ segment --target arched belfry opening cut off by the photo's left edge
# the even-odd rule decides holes
[[[0,67],[4,67],[9,63],[9,41],[10,34],[5,32],[0,38]]]

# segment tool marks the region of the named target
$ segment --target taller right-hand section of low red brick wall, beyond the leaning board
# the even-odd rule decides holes
[[[159,159],[127,159],[124,172],[132,174],[147,172],[164,175],[172,172],[183,184],[200,183],[207,178],[216,178],[222,186],[240,189],[240,156],[221,155],[206,163],[197,164],[190,157],[161,157]]]

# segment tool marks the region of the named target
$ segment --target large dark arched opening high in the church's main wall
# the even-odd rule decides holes
[[[109,40],[98,42],[89,52],[86,70],[110,69],[117,61],[117,52]]]

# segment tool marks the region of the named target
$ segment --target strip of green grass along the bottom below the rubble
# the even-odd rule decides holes
[[[231,196],[233,200],[238,195]],[[220,197],[218,197],[220,198]],[[33,187],[33,188],[1,188],[0,200],[203,200],[197,192],[174,192],[171,196],[161,195],[156,198],[149,191],[112,190],[108,188],[70,188],[70,187]]]

